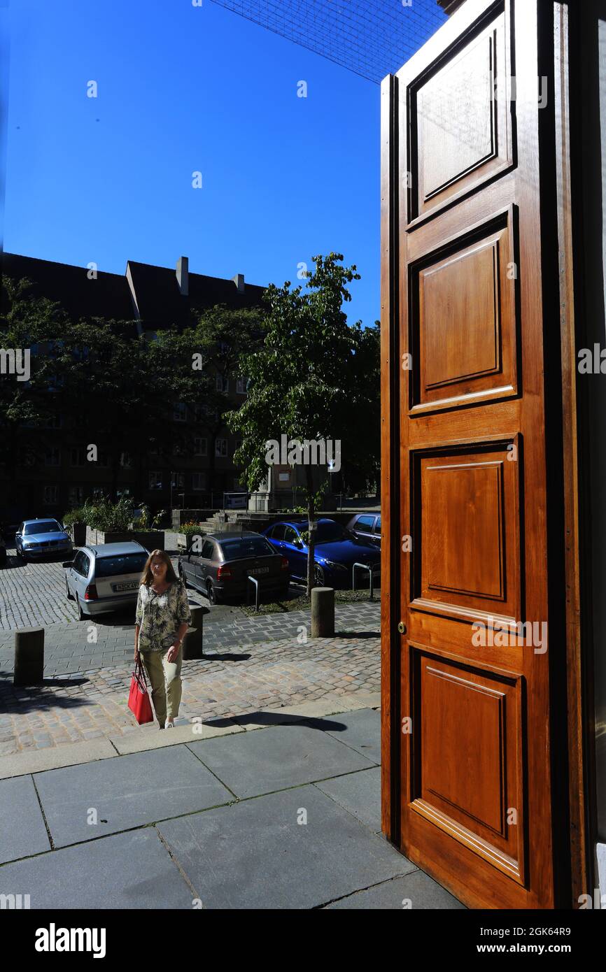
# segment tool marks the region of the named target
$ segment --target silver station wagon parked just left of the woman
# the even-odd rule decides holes
[[[139,583],[149,554],[141,543],[98,543],[80,547],[65,568],[65,592],[75,601],[78,617],[106,614],[136,605]]]

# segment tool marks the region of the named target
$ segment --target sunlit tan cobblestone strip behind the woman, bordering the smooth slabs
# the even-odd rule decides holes
[[[370,633],[216,651],[184,662],[177,723],[276,709],[329,693],[375,692],[379,660],[379,638]],[[142,731],[126,705],[130,671],[123,662],[33,687],[0,682],[0,755]]]

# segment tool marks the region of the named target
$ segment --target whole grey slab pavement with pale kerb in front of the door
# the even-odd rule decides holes
[[[32,909],[462,908],[380,836],[378,702],[5,756],[0,894]]]

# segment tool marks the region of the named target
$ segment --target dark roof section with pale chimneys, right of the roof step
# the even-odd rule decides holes
[[[192,323],[192,310],[227,304],[228,307],[257,307],[261,303],[264,287],[245,284],[239,292],[233,280],[206,277],[201,273],[189,273],[189,294],[179,292],[174,269],[137,263],[128,260],[130,279],[134,290],[141,321],[146,329],[166,324],[188,325]]]

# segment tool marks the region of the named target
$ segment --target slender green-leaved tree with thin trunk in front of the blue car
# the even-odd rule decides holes
[[[267,440],[280,442],[282,434],[301,443],[335,439],[343,421],[356,428],[368,405],[368,383],[361,369],[373,338],[365,335],[360,322],[347,324],[342,309],[343,301],[351,299],[347,285],[360,275],[355,265],[342,266],[342,260],[336,253],[314,257],[315,270],[307,273],[304,292],[302,286],[291,290],[286,281],[279,288],[271,284],[264,295],[263,347],[240,359],[241,373],[249,378],[248,398],[226,415],[232,432],[242,436],[234,460],[246,469],[250,490],[257,489],[267,475]],[[309,596],[318,497],[311,466],[307,463],[303,468]]]

